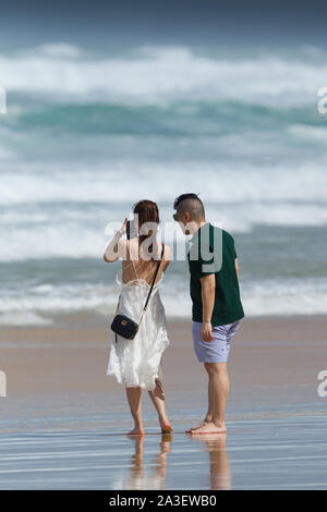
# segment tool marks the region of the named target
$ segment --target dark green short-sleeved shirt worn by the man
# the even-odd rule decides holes
[[[193,303],[192,319],[203,321],[201,278],[210,273],[215,273],[216,278],[213,327],[232,324],[243,318],[233,237],[227,231],[207,222],[194,234],[190,245],[187,260]]]

